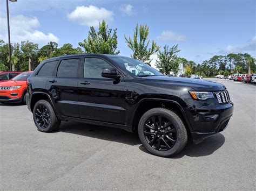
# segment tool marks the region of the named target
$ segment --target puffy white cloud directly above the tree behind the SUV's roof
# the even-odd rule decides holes
[[[85,26],[98,26],[102,20],[113,20],[114,13],[97,6],[77,6],[75,10],[67,14],[69,20]]]

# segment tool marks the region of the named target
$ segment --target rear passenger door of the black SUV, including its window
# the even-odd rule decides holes
[[[80,60],[80,57],[61,59],[55,69],[56,76],[49,77],[46,84],[46,89],[62,116],[79,117],[77,83]]]

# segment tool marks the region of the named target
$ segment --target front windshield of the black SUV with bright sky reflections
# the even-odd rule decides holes
[[[116,62],[120,67],[125,69],[128,73],[134,76],[144,77],[144,76],[157,76],[163,75],[156,69],[146,65],[143,62],[135,60],[128,57],[111,57],[111,59]]]

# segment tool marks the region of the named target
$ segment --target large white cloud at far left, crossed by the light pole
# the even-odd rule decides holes
[[[6,18],[0,18],[1,30],[0,39],[8,40],[7,22]],[[20,42],[24,40],[32,41],[33,43],[46,44],[49,41],[58,42],[59,39],[52,33],[43,33],[36,30],[40,26],[39,20],[36,17],[26,17],[24,15],[17,15],[10,17],[10,32],[11,42]]]

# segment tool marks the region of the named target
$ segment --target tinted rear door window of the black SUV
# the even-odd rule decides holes
[[[78,58],[62,60],[58,67],[57,77],[78,77],[79,60]]]

